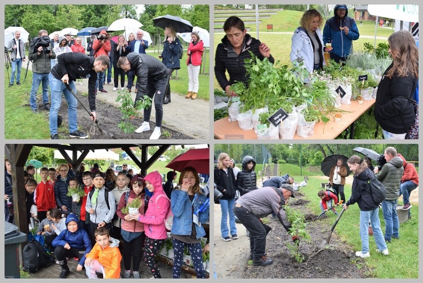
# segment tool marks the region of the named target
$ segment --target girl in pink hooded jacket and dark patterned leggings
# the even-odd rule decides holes
[[[159,172],[151,172],[144,177],[145,187],[153,195],[148,201],[145,215],[131,214],[131,218],[144,224],[145,244],[144,262],[151,271],[153,278],[161,278],[160,271],[154,259],[167,238],[164,219],[170,209],[170,200],[167,198],[163,187],[162,177]]]

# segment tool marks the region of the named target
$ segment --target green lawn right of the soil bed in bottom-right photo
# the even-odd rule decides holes
[[[295,178],[295,177],[294,177]],[[320,214],[317,192],[320,190],[320,183],[326,179],[310,177],[305,187],[300,188],[300,192],[305,194],[310,200],[307,205],[312,211]],[[345,197],[348,200],[351,196],[351,185],[345,185]],[[402,204],[402,201],[399,202]],[[341,208],[337,208],[341,210]],[[376,253],[376,245],[373,236],[369,236],[370,257],[365,259],[367,268],[378,279],[385,278],[418,278],[419,277],[419,205],[413,204],[411,208],[412,219],[400,225],[400,238],[392,239],[387,243],[389,255],[382,256]],[[333,213],[328,213],[328,226],[332,226],[336,220]],[[385,231],[385,222],[382,211],[379,210],[379,219],[382,232]],[[359,235],[360,210],[357,204],[353,204],[343,214],[335,230],[338,235],[352,247],[354,251],[361,250],[361,240]],[[343,250],[344,247],[339,247]],[[356,264],[359,268],[358,263]]]

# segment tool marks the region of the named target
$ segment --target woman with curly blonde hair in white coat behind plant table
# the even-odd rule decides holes
[[[291,62],[296,64],[303,62],[303,67],[308,72],[313,70],[323,70],[325,64],[323,56],[323,41],[321,26],[323,24],[322,15],[316,9],[307,10],[301,17],[300,26],[294,31],[292,36]],[[327,52],[331,47],[326,49]]]

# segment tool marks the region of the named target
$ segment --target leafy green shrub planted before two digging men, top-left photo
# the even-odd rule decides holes
[[[122,120],[118,124],[118,127],[125,133],[133,132],[137,127],[131,123],[130,117],[135,116],[137,111],[140,111],[141,109],[151,107],[152,100],[150,97],[144,95],[134,107],[130,93],[125,91],[118,91],[118,93],[119,95],[116,98],[116,102],[121,102],[121,106],[118,108],[122,113]]]

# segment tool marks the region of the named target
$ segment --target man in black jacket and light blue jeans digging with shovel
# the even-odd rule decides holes
[[[57,113],[62,104],[62,93],[68,101],[68,119],[70,137],[87,138],[87,134],[78,130],[76,107],[77,100],[68,90],[66,84],[76,93],[75,80],[88,78],[88,102],[91,110],[91,120],[95,115],[95,82],[97,73],[109,67],[110,60],[106,55],[89,57],[82,53],[64,53],[57,57],[57,64],[51,70],[49,76],[52,106],[50,109],[50,137],[59,139],[57,133]],[[66,83],[66,84],[65,84]]]

